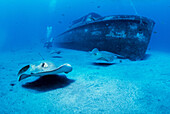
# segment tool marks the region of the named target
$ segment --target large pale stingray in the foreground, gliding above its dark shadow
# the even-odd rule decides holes
[[[72,66],[68,63],[56,67],[55,64],[53,64],[52,62],[37,62],[35,64],[29,64],[22,67],[18,72],[18,81],[21,81],[31,76],[41,77],[45,75],[56,75],[58,73],[67,74],[71,71]]]

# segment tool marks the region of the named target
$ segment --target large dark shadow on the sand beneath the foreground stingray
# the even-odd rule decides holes
[[[46,75],[40,77],[39,79],[35,80],[34,82],[27,82],[26,84],[22,85],[22,87],[27,89],[36,90],[39,92],[46,92],[58,88],[64,88],[74,80],[68,79],[65,75]]]

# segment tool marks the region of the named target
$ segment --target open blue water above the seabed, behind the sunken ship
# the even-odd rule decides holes
[[[102,16],[136,13],[156,22],[150,47],[168,50],[169,0],[1,0],[0,45],[26,47],[46,37],[46,27],[54,35],[66,30],[71,22],[89,12]]]

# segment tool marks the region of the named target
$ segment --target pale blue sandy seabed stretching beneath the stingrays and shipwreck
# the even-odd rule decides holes
[[[56,48],[0,54],[0,113],[170,113],[170,54],[95,64],[88,52]],[[20,68],[42,57],[69,63],[68,74],[17,81]]]

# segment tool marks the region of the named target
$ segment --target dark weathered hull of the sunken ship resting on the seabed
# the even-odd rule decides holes
[[[84,51],[98,48],[140,60],[144,58],[154,24],[148,18],[134,15],[100,17],[71,27],[58,35],[54,44]]]

